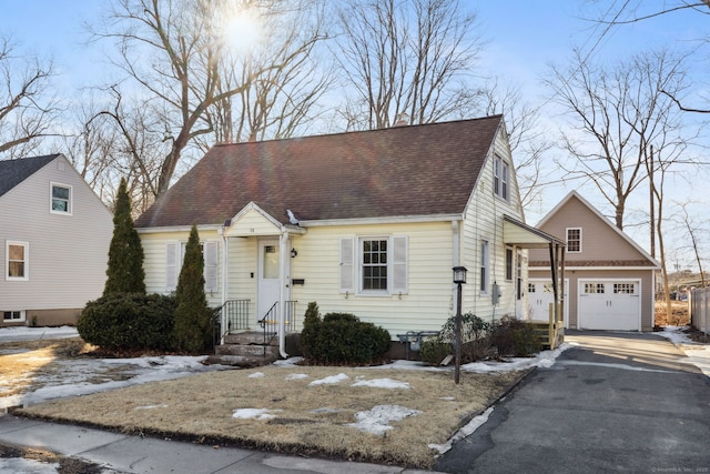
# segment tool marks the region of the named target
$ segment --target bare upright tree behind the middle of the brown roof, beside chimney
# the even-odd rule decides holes
[[[348,128],[385,128],[458,113],[480,41],[476,17],[458,0],[347,0],[337,10],[335,57],[354,95],[341,109]]]

